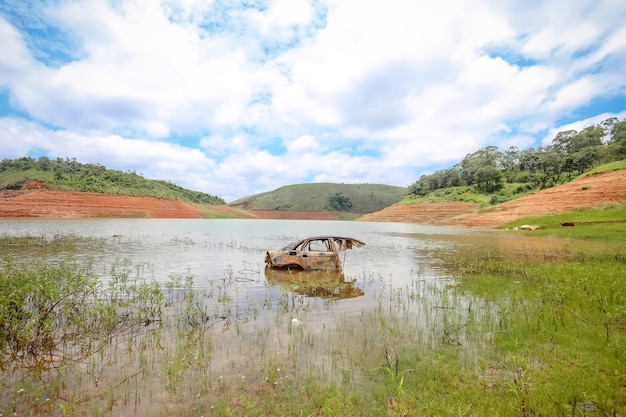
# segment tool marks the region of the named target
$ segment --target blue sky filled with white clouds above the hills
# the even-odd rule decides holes
[[[2,0],[0,159],[227,202],[626,117],[623,0]]]

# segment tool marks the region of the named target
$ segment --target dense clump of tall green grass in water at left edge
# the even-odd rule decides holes
[[[0,366],[40,374],[97,351],[111,321],[96,305],[98,291],[95,276],[71,262],[23,265],[5,260],[0,269]]]

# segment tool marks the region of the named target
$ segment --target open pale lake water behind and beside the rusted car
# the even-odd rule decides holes
[[[112,265],[127,261],[141,268],[148,279],[166,282],[173,276],[192,276],[194,287],[199,289],[212,287],[228,277],[237,282],[238,298],[249,302],[267,292],[266,250],[281,248],[300,238],[336,235],[365,242],[364,247],[348,250],[342,257],[346,280],[356,281],[355,285],[367,296],[376,290],[376,285],[402,286],[416,274],[424,280],[450,279],[432,253],[460,243],[441,237],[479,233],[484,232],[406,223],[319,220],[0,220],[0,235],[45,239],[79,235],[97,242],[85,242],[67,253],[4,249],[7,253],[2,256],[47,261],[71,256],[89,260],[103,280],[108,279]],[[365,288],[365,282],[369,288]],[[368,297],[359,298],[366,302]]]

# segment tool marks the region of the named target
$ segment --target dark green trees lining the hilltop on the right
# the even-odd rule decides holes
[[[422,175],[409,186],[408,195],[423,197],[432,191],[460,186],[494,193],[505,183],[519,183],[527,190],[543,189],[567,182],[597,164],[622,159],[626,159],[626,119],[610,118],[580,132],[559,132],[550,145],[536,149],[479,149],[451,168]]]

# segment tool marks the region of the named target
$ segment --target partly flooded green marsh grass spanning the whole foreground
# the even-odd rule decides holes
[[[334,310],[349,302],[340,297],[311,297],[336,293],[337,281],[325,276],[308,287],[298,276],[278,294],[268,283],[265,301],[243,308],[228,271],[200,291],[190,276],[153,283],[129,261],[113,265],[104,284],[76,263],[5,260],[0,280],[14,287],[0,292],[1,328],[20,323],[10,300],[46,301],[32,295],[41,278],[35,287],[47,288],[57,313],[46,329],[64,349],[33,372],[3,333],[0,413],[624,415],[623,244],[509,240],[519,245],[488,236],[431,250],[439,280],[411,271],[408,284],[394,287],[366,272],[351,277],[372,297],[360,310]],[[101,319],[92,327],[107,331],[61,325],[79,317]]]

